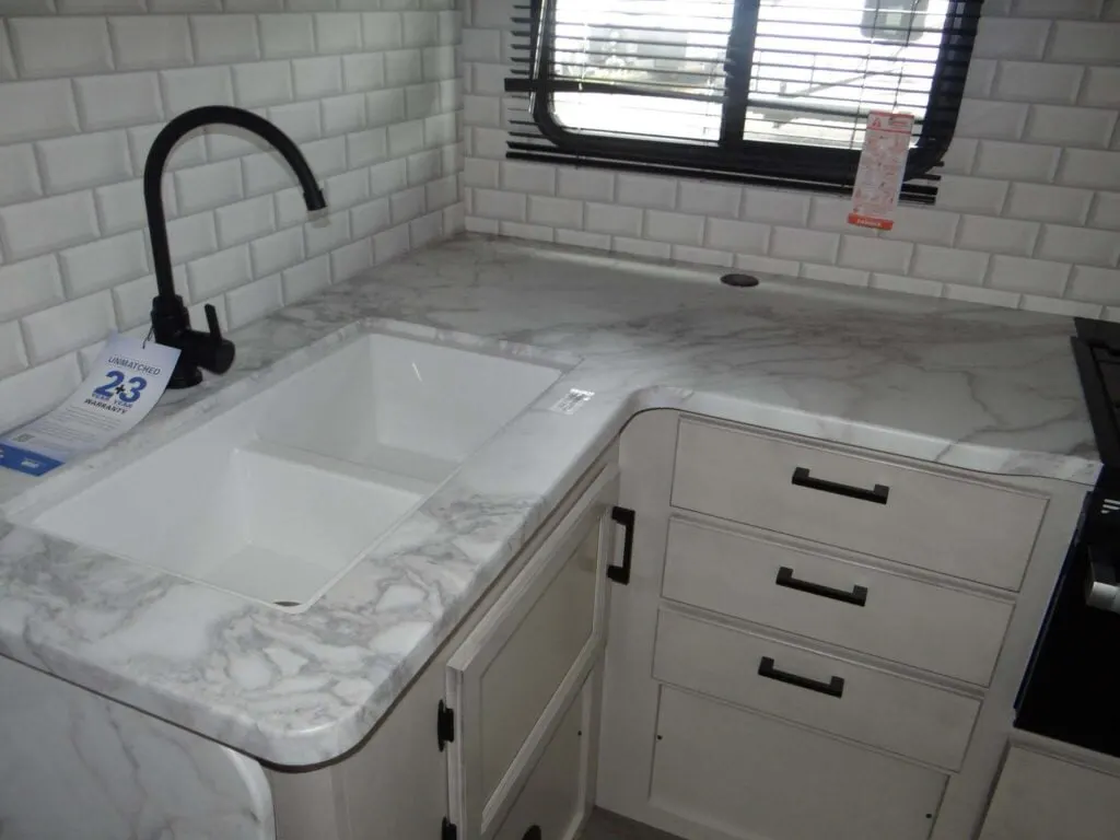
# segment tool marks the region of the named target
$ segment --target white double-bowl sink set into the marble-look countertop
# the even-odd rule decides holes
[[[298,612],[561,374],[364,334],[24,524]]]

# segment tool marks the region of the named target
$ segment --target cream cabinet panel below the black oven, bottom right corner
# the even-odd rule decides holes
[[[1116,840],[1120,763],[1114,773],[1011,747],[980,840]]]

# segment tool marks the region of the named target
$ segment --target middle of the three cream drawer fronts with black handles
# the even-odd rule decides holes
[[[674,517],[666,598],[987,685],[1011,605]]]

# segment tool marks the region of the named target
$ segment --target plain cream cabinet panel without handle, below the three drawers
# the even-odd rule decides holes
[[[925,840],[945,776],[663,688],[652,803],[735,837]]]

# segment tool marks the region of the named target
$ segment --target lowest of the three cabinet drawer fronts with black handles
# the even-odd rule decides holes
[[[653,675],[946,769],[961,766],[980,708],[962,694],[664,609]]]

